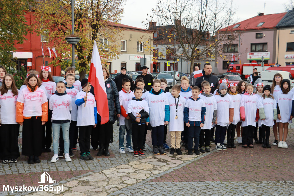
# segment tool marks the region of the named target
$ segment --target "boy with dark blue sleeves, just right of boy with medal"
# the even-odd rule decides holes
[[[193,139],[194,139],[194,152],[196,155],[200,155],[199,137],[201,127],[204,125],[206,107],[204,101],[198,96],[200,94],[200,88],[194,86],[192,88],[192,97],[186,101],[184,109],[184,121],[189,131],[188,139],[188,155],[193,155]]]

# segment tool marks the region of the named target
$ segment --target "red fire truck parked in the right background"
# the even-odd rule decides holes
[[[262,67],[261,64],[257,64],[255,62],[252,63],[245,63],[245,64],[230,64],[228,66],[227,72],[235,72],[241,75],[243,80],[247,80],[250,74],[253,73],[253,69],[256,68],[258,72],[262,72],[269,67],[276,66],[274,63],[264,64]]]

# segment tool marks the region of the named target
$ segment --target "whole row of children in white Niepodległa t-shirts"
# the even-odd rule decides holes
[[[3,68],[0,67],[0,71]],[[17,162],[19,126],[23,126],[21,153],[29,157],[28,163],[39,163],[41,153],[51,151],[52,126],[54,156],[51,162],[63,156],[65,161],[71,161],[72,151],[77,150],[77,139],[81,159],[92,160],[91,132],[97,124],[97,109],[95,98],[89,92],[91,84],[88,79],[76,80],[75,70],[71,67],[66,70],[65,81],[57,84],[52,79],[50,67],[42,67],[41,70],[40,77],[36,72],[28,73],[20,90],[11,74],[5,74],[1,79],[0,159],[3,163]],[[290,81],[280,74],[275,74],[272,86],[256,84],[256,92],[253,92],[252,84],[246,85],[244,81],[228,84],[225,79],[220,79],[215,95],[211,93],[209,82],[203,81],[201,89],[197,86],[191,89],[188,78],[184,76],[181,86],[174,85],[171,93],[166,89],[165,79],[155,79],[150,92],[144,89],[143,79],[138,78],[135,84],[137,88],[132,92],[131,81],[123,79],[123,88],[119,92],[122,111],[119,117],[120,153],[125,153],[123,142],[126,132],[126,149],[134,156],[145,156],[146,134],[151,130],[154,155],[165,155],[165,149],[169,149],[166,144],[169,130],[170,154],[176,152],[181,155],[181,144],[185,144],[188,155],[193,155],[193,150],[200,155],[210,152],[214,127],[217,150],[236,147],[236,127],[238,143],[245,148],[254,147],[253,138],[257,143],[257,127],[260,127],[258,142],[269,148],[272,126],[275,135],[273,145],[288,147],[286,138],[288,123],[294,116],[294,90],[290,91]]]

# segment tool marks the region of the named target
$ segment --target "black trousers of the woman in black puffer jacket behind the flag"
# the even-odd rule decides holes
[[[101,147],[102,145],[109,145],[109,143],[113,142],[113,127],[112,123],[106,122],[105,124],[101,124],[98,129],[98,143]]]

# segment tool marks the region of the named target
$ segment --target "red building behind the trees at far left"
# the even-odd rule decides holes
[[[26,24],[31,25],[34,21],[34,12],[26,11]],[[36,32],[32,32],[24,36],[27,40],[24,40],[23,44],[15,44],[16,51],[13,52],[13,57],[16,58],[15,62],[17,66],[14,69],[19,70],[21,66],[24,66],[25,70],[36,70],[41,72],[41,66],[43,66],[42,45],[44,45],[44,65],[49,65],[53,61],[53,57],[49,56],[48,46],[50,49],[53,47],[53,43],[48,43],[43,36],[38,36]],[[55,55],[54,55],[55,57]],[[61,75],[61,68],[51,67],[51,74],[53,76]]]

